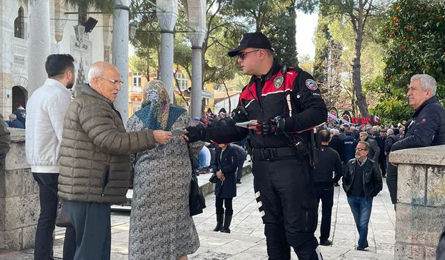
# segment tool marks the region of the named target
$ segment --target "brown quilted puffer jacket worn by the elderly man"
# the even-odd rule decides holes
[[[62,137],[58,196],[80,202],[126,202],[129,154],[155,146],[152,130],[125,132],[113,103],[88,85],[68,107]]]

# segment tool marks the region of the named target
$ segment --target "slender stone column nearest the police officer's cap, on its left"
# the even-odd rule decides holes
[[[201,116],[202,113],[202,43],[205,33],[202,31],[191,32],[192,43],[192,93],[191,116]]]

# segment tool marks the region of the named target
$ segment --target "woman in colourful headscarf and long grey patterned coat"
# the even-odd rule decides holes
[[[165,85],[152,80],[145,85],[143,103],[127,123],[129,132],[144,128],[165,131],[194,125],[186,110],[170,104]],[[129,259],[184,260],[196,252],[200,241],[189,214],[191,156],[203,143],[187,144],[172,137],[134,155]]]

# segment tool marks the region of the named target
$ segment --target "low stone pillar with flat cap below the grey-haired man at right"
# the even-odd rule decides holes
[[[391,152],[398,164],[394,259],[436,259],[445,227],[445,146]]]

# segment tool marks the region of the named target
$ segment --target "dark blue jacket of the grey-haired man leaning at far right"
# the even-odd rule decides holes
[[[405,138],[397,141],[391,150],[441,144],[445,144],[445,108],[432,96],[414,112]]]

